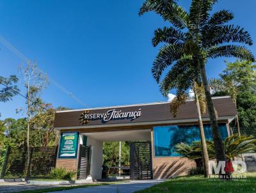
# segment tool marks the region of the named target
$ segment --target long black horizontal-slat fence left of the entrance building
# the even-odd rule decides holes
[[[47,178],[56,165],[57,151],[57,146],[8,147],[1,178]]]

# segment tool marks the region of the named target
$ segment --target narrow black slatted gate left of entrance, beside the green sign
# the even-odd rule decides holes
[[[77,179],[86,179],[90,173],[90,147],[80,144]]]

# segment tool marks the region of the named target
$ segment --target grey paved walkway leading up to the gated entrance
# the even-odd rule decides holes
[[[152,187],[152,185],[156,185],[157,183],[161,183],[164,180],[134,180],[129,181],[127,183],[120,184],[111,184],[111,185],[102,185],[99,187],[88,187],[88,188],[80,188],[80,189],[71,189],[71,190],[62,190],[52,193],[132,193],[137,190],[147,189],[148,187]]]

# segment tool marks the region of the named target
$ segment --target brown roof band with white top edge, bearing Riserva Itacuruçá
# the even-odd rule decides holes
[[[236,105],[232,102],[228,96],[213,97],[212,101],[218,114],[219,120],[232,120],[236,114]],[[136,118],[113,118],[109,121],[104,121],[103,116],[109,111],[115,109],[116,112],[138,112],[140,116]],[[83,112],[87,114],[95,114],[94,119],[88,121],[88,123],[81,123],[79,118],[83,117]],[[99,114],[99,116],[97,116]],[[127,115],[127,114],[126,114]],[[93,116],[93,115],[92,115]],[[87,116],[88,117],[88,116]],[[203,120],[209,120],[209,114],[206,112],[202,116]],[[154,125],[158,123],[182,123],[197,121],[198,116],[196,112],[195,100],[188,100],[186,104],[182,105],[177,112],[177,116],[174,118],[170,113],[170,102],[156,102],[151,104],[135,104],[135,105],[122,105],[114,107],[100,107],[93,109],[77,109],[68,111],[56,112],[54,127],[56,128],[93,128],[93,127],[118,127],[126,125]]]

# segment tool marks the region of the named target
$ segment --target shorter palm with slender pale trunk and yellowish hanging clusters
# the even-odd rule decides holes
[[[189,59],[189,58],[188,58]],[[189,65],[191,66],[189,68]],[[177,112],[181,105],[186,103],[189,95],[186,90],[189,88],[193,89],[195,93],[196,111],[198,114],[198,123],[200,128],[201,137],[201,150],[203,152],[203,165],[204,165],[204,176],[209,176],[209,157],[207,147],[205,143],[204,125],[201,114],[205,114],[205,93],[204,86],[198,72],[198,68],[194,68],[193,61],[188,60],[187,65],[183,65],[182,68],[172,70],[172,77],[166,76],[162,82],[159,83],[160,91],[164,96],[167,96],[171,89],[177,89],[177,96],[173,98],[170,103],[170,110],[172,116],[177,116]]]

